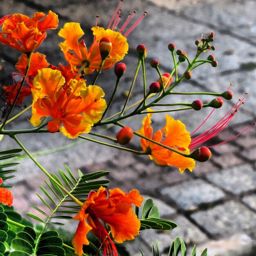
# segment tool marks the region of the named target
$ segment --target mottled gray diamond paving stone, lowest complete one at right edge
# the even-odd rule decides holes
[[[198,211],[191,214],[191,218],[217,237],[248,229],[254,230],[256,227],[254,212],[235,201],[225,202],[207,211]]]

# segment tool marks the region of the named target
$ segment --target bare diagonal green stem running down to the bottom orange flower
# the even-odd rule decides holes
[[[25,146],[23,146],[23,144],[19,141],[19,139],[16,137],[16,135],[10,135],[10,137],[12,137],[19,144],[19,146],[25,151],[25,153],[29,156],[29,158],[43,171],[43,173],[45,173],[45,175],[47,177],[49,177],[50,180],[52,180],[61,190],[63,190],[76,204],[79,204],[80,206],[83,206],[83,203],[81,201],[79,201],[77,198],[75,198],[74,195],[72,195],[69,191],[67,191],[67,189],[65,189],[61,184],[59,184],[52,177],[52,175],[50,175],[45,170],[45,168],[43,168],[43,166],[36,161],[36,159],[33,157],[33,155],[31,155],[31,153],[29,153],[27,148],[25,148]]]

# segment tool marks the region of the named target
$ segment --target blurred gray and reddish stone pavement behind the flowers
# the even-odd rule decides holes
[[[45,42],[38,52],[47,56],[52,65],[65,59],[58,43],[63,38],[57,32],[65,22],[79,22],[85,32],[85,40],[90,45],[92,39],[90,28],[94,26],[95,17],[99,15],[99,25],[106,27],[119,0],[1,0],[0,16],[12,13],[23,13],[32,16],[35,11],[47,13],[52,10],[58,14],[59,28],[49,31]],[[222,108],[215,110],[211,118],[200,129],[200,132],[211,128],[238,98],[248,92],[245,104],[234,116],[229,126],[209,145],[227,140],[243,131],[256,120],[256,1],[255,0],[124,0],[122,4],[124,19],[129,12],[137,10],[137,18],[144,10],[148,14],[138,27],[128,35],[129,53],[124,58],[127,71],[117,92],[117,102],[110,114],[120,110],[125,101],[124,92],[129,90],[137,64],[136,47],[143,43],[148,49],[146,58],[147,84],[157,79],[157,73],[150,67],[150,61],[157,58],[162,73],[173,68],[171,54],[167,49],[169,43],[175,43],[190,58],[196,51],[195,40],[201,34],[208,35],[215,31],[218,67],[202,65],[193,70],[191,80],[182,81],[179,91],[216,91],[224,92],[233,83],[234,99],[225,101]],[[88,35],[88,36],[87,36]],[[0,83],[6,83],[6,77],[15,72],[14,65],[20,53],[7,46],[0,45]],[[207,58],[208,54],[204,55]],[[2,62],[1,62],[2,61]],[[186,65],[180,65],[182,74]],[[89,83],[88,79],[88,83]],[[103,72],[97,85],[103,87],[106,98],[112,94],[115,76],[113,70]],[[142,73],[135,83],[131,103],[141,99],[143,91]],[[176,88],[175,88],[176,89]],[[213,97],[198,97],[209,101]],[[175,96],[175,102],[193,101],[197,98],[184,95]],[[173,100],[173,99],[172,99]],[[166,99],[164,102],[167,102]],[[2,104],[1,104],[2,106]],[[18,111],[18,108],[16,109]],[[211,110],[204,108],[200,112],[189,110],[170,114],[186,124],[187,130],[193,131],[209,115]],[[20,128],[30,127],[27,111],[18,119]],[[200,114],[200,115],[198,115]],[[142,116],[128,120],[127,125],[134,130],[141,126]],[[164,126],[164,115],[154,120],[155,129]],[[10,124],[8,128],[14,128]],[[101,132],[101,129],[97,129]],[[108,134],[115,136],[117,130],[108,128]],[[20,135],[20,140],[32,152],[65,146],[74,141],[61,134],[45,134],[43,140],[38,135]],[[75,140],[76,141],[76,140]],[[4,136],[0,149],[17,147],[14,141]],[[132,147],[140,149],[139,139],[132,141]],[[127,152],[99,146],[91,143],[80,143],[75,147],[37,157],[38,161],[50,172],[58,172],[67,164],[72,171],[80,169],[84,173],[92,171],[111,171],[110,188],[116,186],[124,191],[138,189],[142,195],[154,199],[160,215],[177,223],[178,227],[168,231],[142,231],[131,242],[132,256],[151,255],[150,246],[156,239],[162,256],[168,255],[171,241],[180,236],[188,245],[188,255],[193,244],[197,244],[198,254],[208,247],[208,255],[218,256],[255,256],[256,255],[256,129],[255,126],[239,137],[211,149],[212,158],[204,163],[197,162],[193,172],[180,174],[176,168],[157,166],[147,156],[132,155]],[[40,193],[39,185],[45,178],[35,164],[22,160],[18,166],[16,179],[11,179],[14,207],[22,213],[35,213],[29,203],[44,209],[35,192]],[[15,184],[13,184],[13,181]],[[68,224],[69,229],[76,228],[77,223]]]

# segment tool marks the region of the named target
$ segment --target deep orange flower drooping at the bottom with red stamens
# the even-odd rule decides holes
[[[89,245],[86,235],[90,230],[99,238],[103,255],[117,255],[117,249],[99,219],[110,226],[113,239],[117,243],[132,240],[139,234],[140,221],[133,213],[132,204],[140,207],[143,197],[136,189],[129,193],[124,193],[118,188],[109,191],[108,199],[108,192],[102,186],[97,192],[91,191],[83,207],[73,218],[79,220],[76,234],[72,239],[75,254],[78,256],[83,254],[83,245]]]

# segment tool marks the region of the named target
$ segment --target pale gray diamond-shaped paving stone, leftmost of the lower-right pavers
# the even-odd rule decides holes
[[[165,187],[160,193],[175,201],[184,210],[193,210],[200,204],[212,203],[225,197],[225,193],[218,187],[200,179]]]

